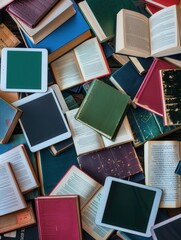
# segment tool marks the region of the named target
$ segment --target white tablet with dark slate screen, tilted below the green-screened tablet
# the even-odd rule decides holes
[[[32,152],[71,137],[70,129],[52,88],[13,103],[23,113],[19,119]]]

